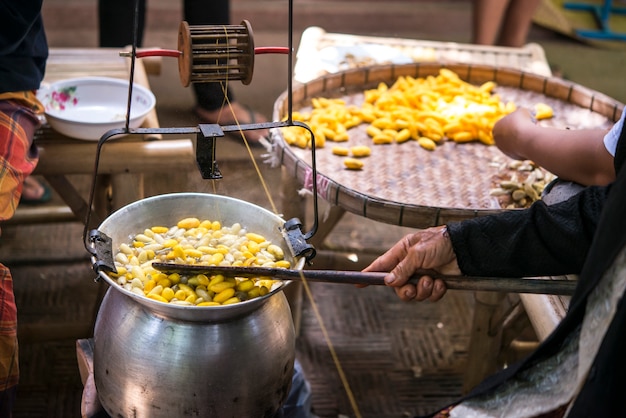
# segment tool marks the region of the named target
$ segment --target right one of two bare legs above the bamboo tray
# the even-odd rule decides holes
[[[521,47],[526,43],[533,15],[541,0],[512,0],[504,17],[498,45]]]

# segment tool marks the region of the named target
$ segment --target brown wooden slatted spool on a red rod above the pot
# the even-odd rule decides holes
[[[254,71],[254,39],[250,22],[240,25],[190,26],[178,30],[178,71],[183,86],[241,80],[250,84]]]

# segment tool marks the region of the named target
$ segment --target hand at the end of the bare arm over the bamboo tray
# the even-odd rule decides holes
[[[535,120],[528,109],[518,108],[500,119],[493,127],[496,146],[507,156],[527,160],[528,147],[534,138]]]

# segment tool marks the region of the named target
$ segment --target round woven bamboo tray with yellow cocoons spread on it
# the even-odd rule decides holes
[[[358,68],[324,76],[293,88],[293,111],[310,111],[316,97],[343,98],[360,105],[363,91],[380,82],[391,85],[400,76],[436,76],[447,68],[469,83],[497,84],[495,93],[505,102],[532,108],[538,102],[555,110],[553,118],[540,123],[568,129],[610,128],[619,119],[623,104],[597,91],[560,78],[519,70],[473,64],[414,63]],[[274,104],[274,120],[284,120],[288,93]],[[435,151],[422,149],[416,141],[371,145],[366,124],[349,131],[348,146],[369,145],[372,155],[362,170],[347,170],[343,159],[333,155],[333,143],[316,149],[318,195],[332,205],[373,220],[425,228],[505,209],[490,196],[494,178],[512,160],[496,146],[446,141]],[[312,190],[312,153],[288,145],[280,129],[274,129],[275,152],[286,171]],[[341,143],[339,145],[346,145]]]

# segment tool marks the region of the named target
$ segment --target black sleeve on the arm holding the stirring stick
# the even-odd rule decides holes
[[[588,187],[562,203],[542,201],[448,224],[463,274],[530,277],[578,274],[610,186]]]

